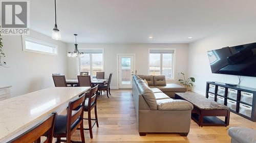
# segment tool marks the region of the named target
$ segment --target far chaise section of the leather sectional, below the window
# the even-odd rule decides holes
[[[166,83],[164,75],[138,75],[141,79],[145,79],[153,92],[163,92],[170,98],[175,97],[175,93],[186,92],[187,89],[175,83]]]

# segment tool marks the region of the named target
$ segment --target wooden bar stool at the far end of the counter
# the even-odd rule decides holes
[[[97,91],[98,91],[98,85],[96,87],[92,88],[90,91],[90,97],[86,99],[86,102],[84,104],[83,111],[88,112],[88,119],[84,118],[84,120],[88,120],[89,128],[84,128],[84,130],[89,130],[90,137],[93,138],[93,127],[95,123],[97,124],[97,127],[99,127],[98,123],[98,116],[97,116]],[[95,119],[92,119],[91,117],[91,110],[94,108],[94,114]],[[92,125],[92,121],[95,121]]]

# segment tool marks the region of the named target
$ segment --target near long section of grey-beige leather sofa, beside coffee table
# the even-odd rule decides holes
[[[137,75],[133,76],[133,99],[140,135],[157,132],[187,136],[193,109],[191,103],[174,100],[158,88],[151,89]]]

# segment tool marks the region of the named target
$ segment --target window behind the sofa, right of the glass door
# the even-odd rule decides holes
[[[150,49],[150,75],[165,75],[166,79],[174,79],[174,49]]]

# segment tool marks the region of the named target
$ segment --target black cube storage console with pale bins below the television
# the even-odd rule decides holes
[[[231,112],[256,122],[256,89],[208,81],[206,98],[226,105]]]

